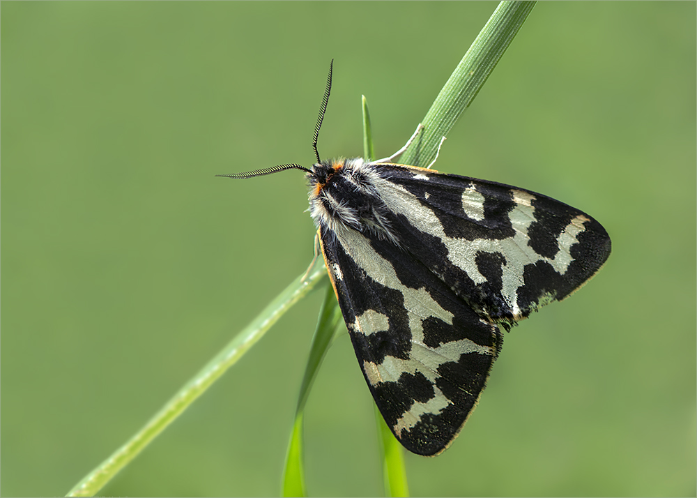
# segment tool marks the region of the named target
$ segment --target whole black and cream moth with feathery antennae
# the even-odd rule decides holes
[[[219,176],[306,173],[321,252],[376,405],[408,451],[437,455],[480,398],[500,328],[583,286],[608,259],[610,237],[546,195],[392,163],[406,146],[373,162],[320,160],[332,66],[312,168]]]

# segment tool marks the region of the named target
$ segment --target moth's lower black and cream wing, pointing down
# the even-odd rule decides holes
[[[323,254],[376,405],[409,451],[436,455],[475,406],[500,333],[389,241],[340,239],[323,232]]]

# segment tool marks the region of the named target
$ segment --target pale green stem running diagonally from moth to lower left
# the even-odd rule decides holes
[[[68,496],[96,495],[118,471],[128,465],[164,428],[167,428],[167,425],[172,423],[196,398],[203,394],[225,370],[234,365],[250,347],[263,337],[284,312],[305,296],[326,274],[324,265],[321,264],[314,266],[305,280],[302,280],[302,277],[296,278],[252,320],[252,323],[238,333],[220,353],[194,375],[141,430],[77,483],[68,492]]]

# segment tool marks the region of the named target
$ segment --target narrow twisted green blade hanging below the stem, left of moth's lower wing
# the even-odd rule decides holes
[[[305,472],[302,465],[302,414],[309,391],[312,388],[317,372],[319,372],[319,367],[329,350],[332,338],[341,323],[341,319],[342,312],[339,310],[337,298],[334,295],[334,287],[328,285],[322,308],[319,311],[317,328],[314,331],[312,346],[310,347],[309,358],[305,367],[305,375],[302,377],[300,393],[298,394],[296,419],[293,422],[293,432],[291,432],[291,441],[288,445],[283,472],[282,495],[284,497],[304,497],[307,495],[305,491]]]

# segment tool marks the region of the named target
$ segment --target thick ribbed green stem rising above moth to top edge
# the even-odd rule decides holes
[[[534,1],[498,4],[426,113],[421,136],[401,155],[399,163],[426,167],[436,158],[441,138],[477,96],[534,6]]]

